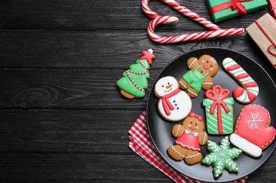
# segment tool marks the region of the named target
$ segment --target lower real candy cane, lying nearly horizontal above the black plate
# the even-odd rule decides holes
[[[178,18],[175,16],[159,16],[154,18],[147,27],[147,34],[149,34],[150,39],[160,44],[171,44],[176,42],[187,42],[197,39],[207,39],[212,37],[226,37],[230,35],[242,34],[244,32],[243,28],[230,28],[225,30],[210,30],[206,32],[196,32],[190,34],[181,34],[169,37],[162,37],[155,34],[155,26],[162,23],[177,23]]]

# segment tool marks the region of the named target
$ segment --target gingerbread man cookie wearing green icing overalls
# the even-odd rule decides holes
[[[218,72],[218,63],[212,56],[203,55],[199,59],[189,58],[187,65],[190,70],[180,78],[180,89],[187,89],[189,96],[195,98],[202,88],[207,90],[213,86],[212,77]]]

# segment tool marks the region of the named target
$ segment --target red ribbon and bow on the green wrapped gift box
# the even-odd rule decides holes
[[[238,16],[243,15],[243,14],[247,14],[247,9],[241,3],[243,1],[252,1],[252,0],[232,0],[232,1],[229,1],[229,2],[225,2],[223,4],[218,4],[217,6],[213,6],[210,9],[210,13],[211,13],[211,15],[213,15],[213,13],[216,13],[218,11],[223,11],[227,8],[232,7],[232,11],[237,9],[237,15]]]

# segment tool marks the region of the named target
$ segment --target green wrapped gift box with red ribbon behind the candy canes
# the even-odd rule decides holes
[[[214,23],[264,9],[267,0],[206,0]]]

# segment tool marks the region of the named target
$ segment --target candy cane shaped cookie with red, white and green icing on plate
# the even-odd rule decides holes
[[[258,96],[258,84],[232,58],[223,60],[223,68],[239,82],[242,87],[236,87],[233,96],[240,103],[251,103]]]

